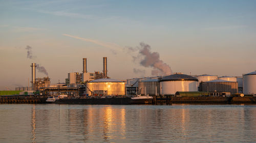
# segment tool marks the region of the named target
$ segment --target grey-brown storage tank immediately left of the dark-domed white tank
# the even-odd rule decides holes
[[[138,94],[159,95],[160,94],[159,79],[147,79],[147,80],[139,81]]]

